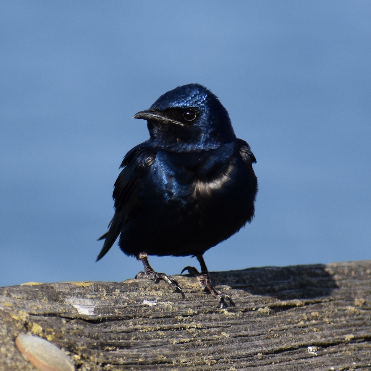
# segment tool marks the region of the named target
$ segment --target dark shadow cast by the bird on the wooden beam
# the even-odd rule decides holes
[[[213,272],[211,277],[215,285],[228,285],[252,295],[269,295],[280,300],[329,296],[338,287],[322,264]]]

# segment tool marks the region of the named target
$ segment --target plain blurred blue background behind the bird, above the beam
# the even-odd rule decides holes
[[[95,263],[96,239],[148,138],[132,116],[190,82],[219,96],[260,185],[210,270],[371,259],[370,19],[367,0],[1,1],[0,286],[142,269],[117,244]]]

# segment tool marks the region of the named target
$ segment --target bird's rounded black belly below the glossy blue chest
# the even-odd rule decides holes
[[[253,200],[240,185],[193,182],[188,192],[153,197],[125,224],[120,247],[128,255],[204,253],[236,233],[253,216]],[[160,200],[160,202],[158,202]]]

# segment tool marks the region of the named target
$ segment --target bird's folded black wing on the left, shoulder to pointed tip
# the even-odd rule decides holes
[[[115,182],[113,193],[115,215],[108,225],[108,232],[99,238],[99,240],[105,239],[105,242],[97,261],[111,249],[126,221],[135,213],[138,206],[137,185],[147,174],[155,157],[156,151],[148,142],[137,145],[124,157],[120,166],[123,170]]]

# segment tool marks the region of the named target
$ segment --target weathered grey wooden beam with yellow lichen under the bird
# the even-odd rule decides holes
[[[227,309],[175,278],[185,300],[141,279],[1,288],[0,370],[34,370],[20,333],[79,370],[371,370],[371,261],[212,273]]]

